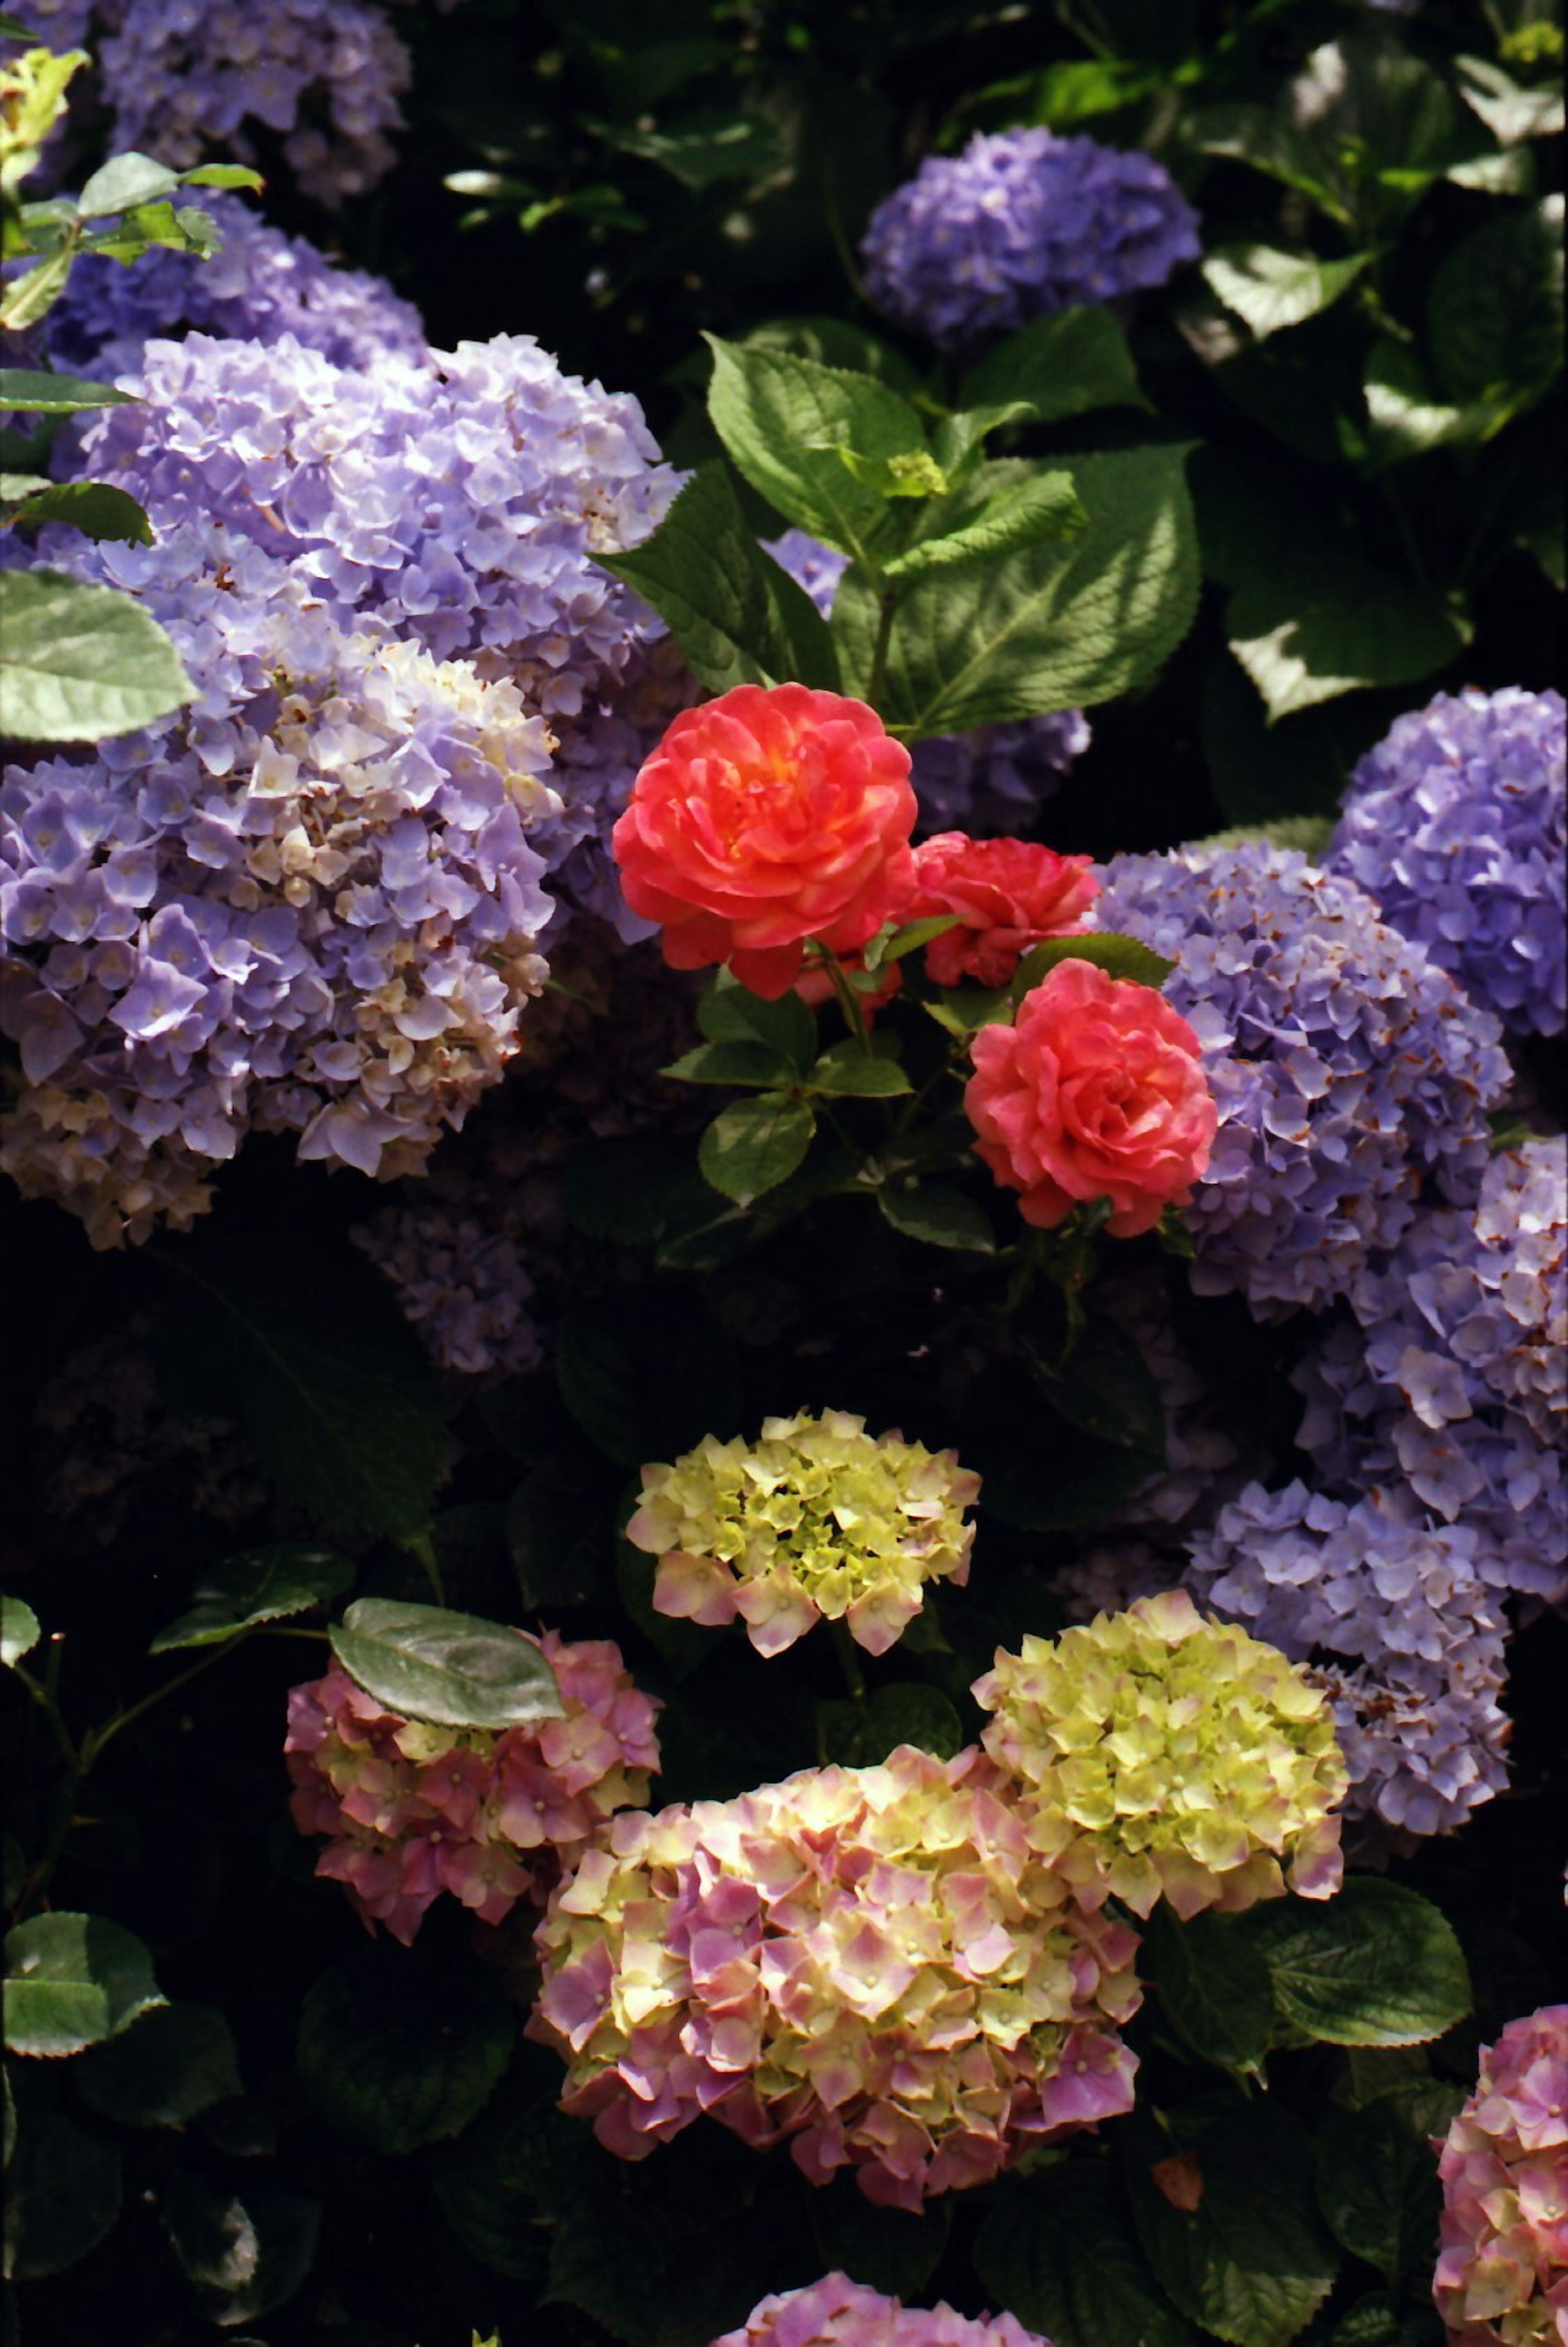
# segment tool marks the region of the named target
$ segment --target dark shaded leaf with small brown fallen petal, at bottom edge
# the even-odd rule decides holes
[[[1333,2288],[1338,2251],[1312,2206],[1312,2138],[1275,2103],[1216,2098],[1183,2110],[1178,2145],[1129,2122],[1134,2223],[1160,2284],[1190,2321],[1235,2347],[1286,2347]],[[1183,2201],[1162,2190],[1185,2166]]]

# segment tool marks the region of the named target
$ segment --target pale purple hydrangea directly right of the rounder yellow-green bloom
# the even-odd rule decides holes
[[[1188,1587],[1307,1666],[1333,1706],[1347,1812],[1446,1833],[1507,1784],[1507,1622],[1486,1535],[1399,1486],[1249,1483],[1192,1542]]]

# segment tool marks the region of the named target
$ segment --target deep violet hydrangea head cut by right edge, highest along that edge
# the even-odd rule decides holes
[[[1561,692],[1439,692],[1361,758],[1324,859],[1509,1033],[1568,1021],[1566,760]]]

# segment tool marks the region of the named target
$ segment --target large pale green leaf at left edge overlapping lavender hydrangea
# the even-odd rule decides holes
[[[171,716],[192,690],[129,594],[59,570],[0,573],[0,735],[106,742]]]

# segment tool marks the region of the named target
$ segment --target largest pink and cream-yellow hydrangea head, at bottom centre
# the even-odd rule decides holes
[[[920,2209],[1131,2108],[1136,1934],[1042,1864],[974,1749],[627,1814],[535,1934],[563,2108],[641,2159],[702,2112]]]

